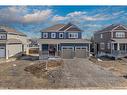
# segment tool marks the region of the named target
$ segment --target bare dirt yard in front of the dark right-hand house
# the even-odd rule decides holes
[[[124,59],[124,60],[123,60]],[[116,76],[127,76],[127,58],[112,60],[109,58],[102,58],[102,61],[98,61],[96,58],[91,57],[90,60],[115,74]]]

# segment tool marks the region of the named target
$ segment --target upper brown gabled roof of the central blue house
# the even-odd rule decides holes
[[[41,30],[41,32],[81,32],[81,30],[74,24],[56,24],[54,26],[48,27],[46,29]]]

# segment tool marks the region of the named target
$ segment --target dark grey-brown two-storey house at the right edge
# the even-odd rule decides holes
[[[95,54],[121,58],[127,56],[127,28],[121,24],[110,25],[94,34]]]

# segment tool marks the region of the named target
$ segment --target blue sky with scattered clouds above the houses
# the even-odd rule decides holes
[[[0,6],[0,25],[15,28],[29,38],[40,38],[40,30],[69,22],[89,39],[111,24],[127,25],[127,6]]]

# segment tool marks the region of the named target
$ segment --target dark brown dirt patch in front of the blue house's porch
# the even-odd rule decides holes
[[[26,67],[24,70],[32,73],[36,77],[44,77],[47,70],[59,67],[63,64],[63,60],[48,60],[48,61],[37,61],[34,64]]]

